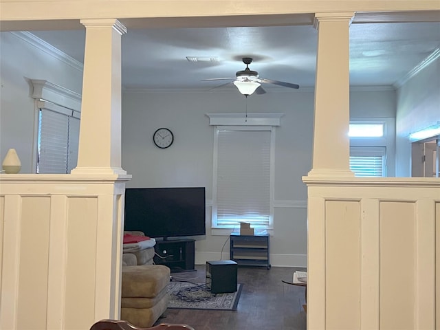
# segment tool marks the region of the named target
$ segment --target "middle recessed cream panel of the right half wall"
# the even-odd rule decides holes
[[[380,327],[383,329],[414,329],[415,236],[415,203],[382,201]]]

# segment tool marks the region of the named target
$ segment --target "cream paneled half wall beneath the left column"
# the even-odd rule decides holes
[[[89,329],[120,317],[130,175],[0,175],[0,329]]]

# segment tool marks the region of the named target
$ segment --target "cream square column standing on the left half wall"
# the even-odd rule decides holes
[[[116,19],[86,27],[78,166],[72,174],[126,174],[121,168],[121,36]]]

